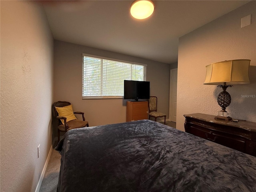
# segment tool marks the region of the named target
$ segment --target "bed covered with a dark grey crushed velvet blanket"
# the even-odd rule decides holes
[[[151,120],[69,130],[58,192],[256,192],[256,157]]]

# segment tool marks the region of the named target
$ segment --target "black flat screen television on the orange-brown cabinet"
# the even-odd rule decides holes
[[[124,99],[149,99],[150,82],[124,80]]]

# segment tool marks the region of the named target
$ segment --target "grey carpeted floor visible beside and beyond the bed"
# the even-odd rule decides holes
[[[164,123],[164,122],[162,122]],[[176,123],[172,121],[166,121],[166,125],[176,128]],[[55,147],[57,142],[54,143]],[[44,179],[40,188],[40,192],[56,192],[60,171],[60,154],[54,148],[44,174]]]

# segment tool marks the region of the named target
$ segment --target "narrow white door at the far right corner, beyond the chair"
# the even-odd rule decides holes
[[[177,72],[178,69],[170,71],[170,108],[169,119],[176,122],[176,107],[177,107]]]

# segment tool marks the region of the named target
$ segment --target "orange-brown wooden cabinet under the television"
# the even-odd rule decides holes
[[[127,101],[126,102],[126,122],[148,119],[147,101]]]

